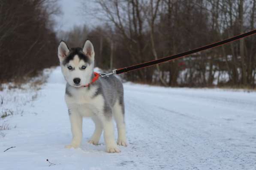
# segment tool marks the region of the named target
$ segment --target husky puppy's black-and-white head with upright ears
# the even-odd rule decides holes
[[[71,48],[64,41],[60,41],[58,57],[62,73],[73,87],[81,87],[90,83],[94,67],[93,44],[86,40],[84,47]]]

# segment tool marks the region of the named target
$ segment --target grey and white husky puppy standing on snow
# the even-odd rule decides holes
[[[71,48],[60,41],[58,57],[66,79],[65,101],[71,123],[72,141],[66,148],[77,148],[82,140],[82,118],[91,117],[95,130],[88,141],[98,144],[104,130],[106,152],[120,152],[117,144],[126,147],[123,85],[115,76],[94,77],[93,44],[86,40],[83,48]],[[118,139],[114,141],[113,117],[117,123]]]

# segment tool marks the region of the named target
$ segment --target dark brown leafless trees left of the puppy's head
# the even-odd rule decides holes
[[[58,64],[56,0],[0,0],[0,84]]]

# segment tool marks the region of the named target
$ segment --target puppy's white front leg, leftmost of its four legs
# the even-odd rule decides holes
[[[72,131],[72,141],[71,144],[66,145],[66,148],[77,148],[80,146],[82,141],[82,116],[72,109],[69,109],[69,120],[71,124],[71,131]]]

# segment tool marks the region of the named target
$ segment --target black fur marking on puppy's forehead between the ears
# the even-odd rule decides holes
[[[74,59],[75,55],[77,55],[80,60],[84,60],[84,62],[89,62],[89,64],[90,64],[90,59],[89,59],[88,56],[86,56],[86,55],[84,54],[82,48],[76,47],[76,48],[71,48],[71,49],[70,49],[68,56],[67,56],[66,59],[62,62],[63,65],[66,65],[67,63],[69,63],[70,60]]]

